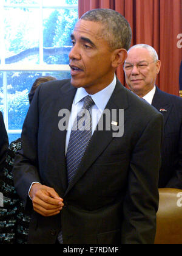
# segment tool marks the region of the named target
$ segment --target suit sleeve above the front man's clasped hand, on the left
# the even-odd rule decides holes
[[[33,182],[40,182],[37,157],[37,134],[39,127],[38,97],[39,88],[36,90],[22,127],[22,149],[16,153],[13,167],[15,188],[25,206],[30,201],[28,196],[30,185]]]

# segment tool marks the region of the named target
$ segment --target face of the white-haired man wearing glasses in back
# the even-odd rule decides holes
[[[129,68],[130,64],[133,65],[132,69]],[[160,60],[155,62],[145,48],[133,48],[130,49],[124,65],[126,83],[130,89],[140,97],[149,93],[160,71]]]

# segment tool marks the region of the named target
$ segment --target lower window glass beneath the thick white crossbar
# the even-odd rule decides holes
[[[8,130],[21,130],[29,109],[28,94],[33,82],[41,76],[53,76],[56,79],[70,78],[70,72],[6,72],[7,74],[7,108]],[[2,73],[0,73],[2,77]],[[0,86],[1,105],[3,110],[5,92]]]

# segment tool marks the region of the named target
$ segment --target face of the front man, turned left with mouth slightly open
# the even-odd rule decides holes
[[[102,28],[99,23],[79,20],[71,36],[71,83],[90,94],[103,90],[113,80],[112,51],[101,37]]]

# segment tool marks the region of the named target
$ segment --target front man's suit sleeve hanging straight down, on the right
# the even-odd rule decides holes
[[[124,244],[153,244],[155,241],[162,140],[163,116],[156,113],[132,152],[123,206],[121,241]]]

